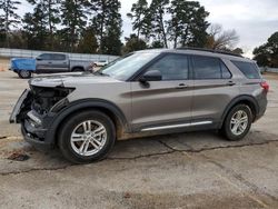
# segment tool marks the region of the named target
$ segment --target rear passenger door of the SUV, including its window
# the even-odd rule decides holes
[[[192,56],[191,61],[195,79],[192,121],[217,123],[227,104],[238,96],[238,83],[220,58]]]

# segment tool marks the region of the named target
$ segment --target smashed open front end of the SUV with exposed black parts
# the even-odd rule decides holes
[[[46,133],[58,111],[67,107],[67,96],[72,88],[41,87],[30,84],[30,90],[23,91],[10,117],[10,122],[21,123],[24,139],[37,146],[50,146]]]

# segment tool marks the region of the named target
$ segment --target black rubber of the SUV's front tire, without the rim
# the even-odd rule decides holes
[[[107,132],[107,139],[103,142],[103,147],[91,156],[82,156],[80,153],[77,153],[71,145],[71,135],[73,133],[76,127],[87,120],[100,122],[105,127]],[[67,121],[58,132],[58,146],[63,157],[73,163],[89,163],[103,159],[113,147],[115,141],[116,130],[113,122],[107,115],[96,110],[82,111],[73,115],[72,117],[67,119]],[[85,141],[81,143],[85,143]],[[92,147],[92,143],[90,146]]]

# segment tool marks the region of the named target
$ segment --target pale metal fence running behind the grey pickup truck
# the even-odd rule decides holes
[[[53,53],[53,51],[0,48],[0,57],[3,58],[36,58],[41,53]],[[69,58],[72,60],[86,60],[86,61],[107,60],[110,62],[118,58],[117,56],[90,54],[90,53],[67,53],[67,54],[69,54]]]

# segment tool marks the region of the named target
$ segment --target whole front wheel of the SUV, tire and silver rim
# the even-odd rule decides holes
[[[99,135],[95,132],[97,129],[100,130]],[[58,146],[66,159],[73,163],[89,163],[101,160],[109,153],[116,141],[116,129],[107,115],[91,110],[68,118],[58,136]],[[96,148],[98,146],[99,149]]]

